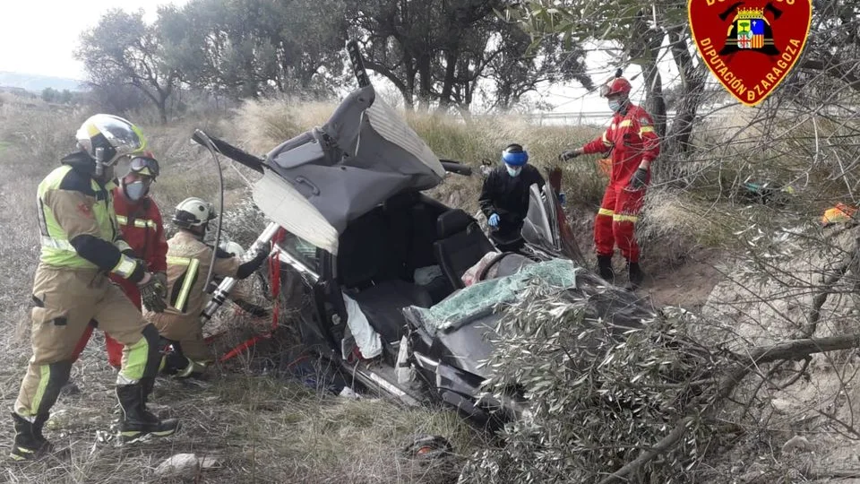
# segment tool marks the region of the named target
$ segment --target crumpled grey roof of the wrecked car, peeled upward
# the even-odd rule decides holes
[[[304,227],[307,224],[301,218],[308,212],[306,207],[292,211],[288,204],[263,200],[299,194],[314,207],[314,218],[329,226],[317,231],[330,236],[342,233],[350,220],[392,195],[432,188],[445,175],[434,152],[397,111],[376,97],[373,85],[349,94],[325,125],[270,151],[265,164],[266,171],[286,181],[289,188],[277,187],[270,177],[266,193],[254,196],[262,211],[282,227]],[[309,234],[293,233],[314,240],[305,237]]]

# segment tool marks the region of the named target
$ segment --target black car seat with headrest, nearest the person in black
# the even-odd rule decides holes
[[[434,243],[436,261],[454,289],[466,287],[460,279],[469,267],[478,263],[495,246],[481,231],[477,220],[460,209],[444,212],[436,219],[439,240]]]

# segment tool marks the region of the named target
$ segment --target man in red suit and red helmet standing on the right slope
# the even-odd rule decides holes
[[[564,151],[562,160],[581,154],[611,152],[612,171],[603,203],[594,222],[594,242],[598,253],[598,272],[613,282],[612,256],[615,246],[627,260],[628,287],[635,290],[644,278],[639,266],[640,248],[633,233],[633,224],[650,181],[650,166],[659,153],[659,138],[645,109],[632,104],[630,82],[621,73],[601,88],[601,95],[615,113],[606,132],[581,148]]]

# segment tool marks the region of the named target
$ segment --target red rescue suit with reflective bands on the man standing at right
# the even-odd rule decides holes
[[[625,259],[638,263],[640,250],[633,234],[633,224],[639,219],[645,187],[633,190],[628,185],[641,162],[650,163],[660,153],[654,123],[645,109],[628,104],[627,113],[615,113],[606,132],[585,144],[582,151],[587,154],[611,151],[609,186],[606,186],[594,223],[598,255],[613,255],[617,245]]]

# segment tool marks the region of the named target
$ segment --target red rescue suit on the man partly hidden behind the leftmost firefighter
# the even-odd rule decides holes
[[[123,238],[132,247],[134,256],[146,262],[148,272],[167,272],[168,270],[168,241],[164,237],[164,223],[161,220],[159,206],[149,196],[140,202],[132,203],[125,198],[122,186],[113,190],[114,210],[116,221],[123,232]],[[142,312],[141,291],[134,282],[126,281],[114,274],[111,281],[123,290],[125,296],[132,300],[134,306]],[[83,349],[90,341],[93,327],[90,325],[78,341],[74,350],[73,361],[77,360]],[[120,367],[123,359],[123,345],[105,333],[107,361],[113,367]]]

